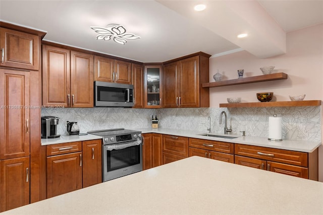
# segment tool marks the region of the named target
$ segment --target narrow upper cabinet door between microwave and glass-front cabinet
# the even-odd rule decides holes
[[[139,64],[132,64],[132,84],[134,88],[135,105],[133,108],[143,108],[143,66]]]

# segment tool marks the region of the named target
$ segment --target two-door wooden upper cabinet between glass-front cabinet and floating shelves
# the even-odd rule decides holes
[[[201,87],[208,79],[209,57],[199,52],[196,56],[164,64],[164,108],[209,106],[209,89]]]

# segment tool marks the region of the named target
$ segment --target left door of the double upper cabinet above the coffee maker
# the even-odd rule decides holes
[[[42,45],[42,104],[70,106],[70,50]]]

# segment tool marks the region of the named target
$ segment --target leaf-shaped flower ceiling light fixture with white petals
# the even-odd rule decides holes
[[[90,27],[92,28],[98,35],[96,39],[102,40],[110,40],[113,39],[115,42],[119,44],[126,44],[127,39],[139,39],[140,36],[136,36],[132,33],[126,33],[125,27],[119,24],[109,24],[106,28],[103,27]]]

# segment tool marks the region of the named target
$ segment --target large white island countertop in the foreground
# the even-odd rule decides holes
[[[322,202],[321,182],[193,156],[2,214],[323,214]]]

